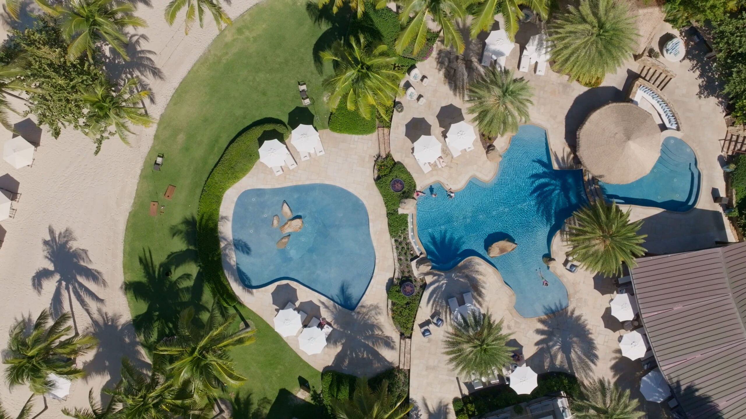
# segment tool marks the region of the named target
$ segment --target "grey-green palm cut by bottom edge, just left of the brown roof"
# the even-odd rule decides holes
[[[645,412],[637,410],[639,401],[630,399],[630,391],[622,391],[609,379],[599,378],[580,387],[580,397],[573,400],[578,419],[637,419]]]

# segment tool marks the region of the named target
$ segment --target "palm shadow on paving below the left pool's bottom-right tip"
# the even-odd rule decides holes
[[[386,316],[380,306],[360,304],[351,312],[339,304],[322,304],[333,327],[327,344],[339,348],[330,365],[333,369],[348,374],[371,375],[392,366],[380,353],[381,350],[396,348],[394,339],[380,326],[380,319]],[[365,368],[361,368],[363,365]]]

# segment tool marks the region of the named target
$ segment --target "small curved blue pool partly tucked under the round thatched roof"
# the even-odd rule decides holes
[[[632,183],[598,183],[606,198],[619,204],[683,212],[697,204],[700,171],[692,148],[683,140],[668,136],[650,173]]]

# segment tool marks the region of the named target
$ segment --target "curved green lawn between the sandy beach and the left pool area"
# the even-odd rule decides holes
[[[128,301],[146,348],[172,335],[181,309],[212,304],[195,264],[195,217],[204,181],[228,142],[260,119],[302,118],[296,109],[301,106],[298,81],[307,83],[315,99],[309,108],[316,113],[314,125],[327,125],[322,75],[313,60],[314,44],[325,28],[312,22],[305,6],[298,0],[265,1],[236,19],[195,63],[158,122],[124,245],[125,283],[140,296],[136,300],[128,293]],[[153,171],[161,153],[163,167]],[[172,201],[163,198],[169,185],[176,186]],[[150,201],[165,205],[163,214],[149,216]],[[185,293],[191,297],[179,297]],[[313,417],[313,412],[292,412],[289,400],[298,390],[299,377],[318,389],[319,371],[254,312],[240,310],[257,327],[256,343],[234,353],[239,370],[249,377],[236,394],[240,410],[253,412],[259,406],[273,418]],[[150,335],[143,335],[148,331]]]

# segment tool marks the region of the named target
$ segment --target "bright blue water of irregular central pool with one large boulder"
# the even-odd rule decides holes
[[[437,196],[419,198],[417,233],[434,268],[448,270],[468,256],[480,256],[513,289],[518,314],[537,317],[568,306],[567,289],[542,257],[586,195],[581,171],[552,167],[545,130],[522,125],[489,183],[472,179],[453,199],[439,183],[430,188]],[[506,238],[518,247],[487,256],[489,245]]]

